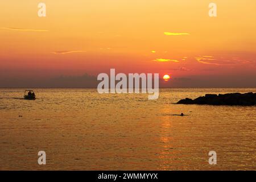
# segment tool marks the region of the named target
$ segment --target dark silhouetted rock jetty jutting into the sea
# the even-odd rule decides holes
[[[177,104],[253,106],[256,105],[256,93],[205,94],[205,96],[197,97],[195,100],[185,98]]]

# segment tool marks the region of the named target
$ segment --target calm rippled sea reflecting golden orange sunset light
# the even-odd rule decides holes
[[[161,89],[153,101],[96,89],[34,91],[37,100],[28,101],[24,89],[0,89],[0,169],[256,170],[256,106],[173,104],[256,89]],[[41,150],[47,164],[39,166]]]

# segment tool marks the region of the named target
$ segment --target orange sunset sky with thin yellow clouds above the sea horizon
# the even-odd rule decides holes
[[[0,87],[110,68],[169,74],[165,86],[256,87],[255,0],[10,0],[0,8]]]

